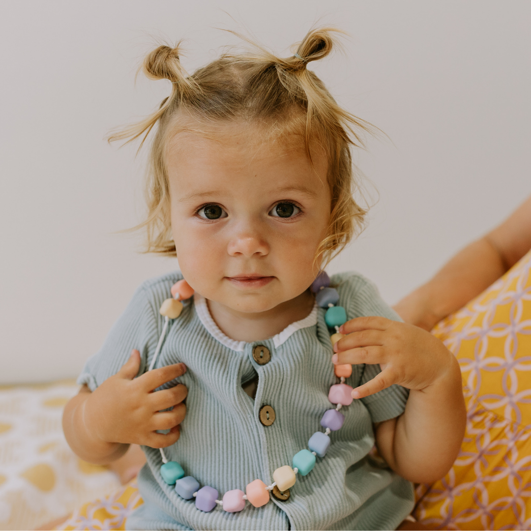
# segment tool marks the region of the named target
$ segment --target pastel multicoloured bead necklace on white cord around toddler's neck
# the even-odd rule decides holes
[[[336,306],[339,302],[339,293],[336,289],[330,287],[330,278],[327,273],[321,271],[311,285],[311,290],[315,294],[315,301],[322,308],[327,308],[324,314],[324,321],[332,330],[330,340],[334,345],[339,339],[344,337],[339,333],[341,324],[347,321],[347,314],[344,307]],[[194,291],[186,280],[179,280],[171,289],[172,297],[166,299],[160,306],[160,314],[164,316],[164,327],[155,349],[155,354],[149,365],[149,371],[155,367],[157,357],[162,347],[162,342],[166,336],[168,323],[170,319],[177,319],[183,310],[181,301],[189,299]],[[305,476],[309,474],[316,463],[316,457],[324,457],[330,446],[330,432],[337,431],[343,425],[345,416],[340,412],[341,407],[352,404],[352,387],[345,383],[345,378],[352,374],[352,365],[335,365],[334,372],[340,379],[330,387],[328,399],[336,407],[328,409],[321,417],[321,426],[324,432],[315,432],[308,441],[309,449],[302,449],[297,452],[292,459],[292,466],[284,465],[273,472],[273,483],[266,485],[261,479],[255,479],[245,487],[245,492],[235,489],[226,492],[222,499],[219,500],[219,493],[213,487],[204,485],[201,487],[199,482],[193,476],[186,476],[185,471],[177,461],[168,461],[164,450],[160,448],[162,457],[162,466],[160,475],[168,485],[175,485],[175,492],[185,500],[195,498],[195,507],[201,511],[209,512],[217,505],[222,506],[224,511],[239,512],[245,508],[245,501],[249,501],[254,507],[262,507],[270,500],[269,491],[275,489],[275,495],[280,494],[282,499],[287,500],[289,497],[288,489],[295,485],[297,474]],[[276,491],[279,491],[277,494]],[[279,498],[280,499],[280,498]]]

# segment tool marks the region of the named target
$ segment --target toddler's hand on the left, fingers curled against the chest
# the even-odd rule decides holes
[[[179,438],[179,424],[186,414],[182,402],[188,390],[182,384],[157,392],[153,389],[182,376],[186,366],[167,365],[135,378],[139,367],[140,353],[133,350],[122,369],[83,402],[83,422],[87,431],[101,441],[165,448]],[[161,411],[172,406],[171,411]]]

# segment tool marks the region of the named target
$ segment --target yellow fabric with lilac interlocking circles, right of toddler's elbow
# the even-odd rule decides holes
[[[468,419],[455,464],[418,487],[414,515],[444,529],[529,529],[531,252],[433,333],[459,361]]]

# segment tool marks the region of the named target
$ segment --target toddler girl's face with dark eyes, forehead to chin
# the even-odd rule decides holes
[[[172,232],[184,278],[245,313],[290,301],[315,278],[330,191],[324,153],[234,124],[179,133],[167,153]]]

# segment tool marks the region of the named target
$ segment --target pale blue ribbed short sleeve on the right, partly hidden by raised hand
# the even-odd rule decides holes
[[[382,299],[376,286],[361,275],[350,273],[341,275],[341,295],[344,293],[347,315],[349,319],[376,315],[393,321],[401,321],[399,315]],[[342,297],[343,298],[343,297]],[[358,386],[372,380],[381,372],[380,365],[365,365]],[[361,401],[369,410],[372,422],[383,422],[404,413],[409,390],[393,385],[362,398]]]

